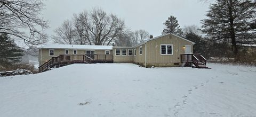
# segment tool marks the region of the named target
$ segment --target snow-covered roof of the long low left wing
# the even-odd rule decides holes
[[[94,49],[111,50],[113,46],[79,45],[79,44],[47,44],[41,48],[48,49]]]

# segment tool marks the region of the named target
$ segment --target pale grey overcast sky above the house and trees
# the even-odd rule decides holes
[[[125,20],[131,30],[144,29],[154,37],[161,35],[167,17],[177,17],[181,28],[185,25],[201,26],[200,20],[205,18],[208,4],[199,0],[46,0],[42,15],[50,21],[51,28],[46,32],[54,34],[64,20],[71,19],[74,13],[101,7],[105,12],[116,14]]]

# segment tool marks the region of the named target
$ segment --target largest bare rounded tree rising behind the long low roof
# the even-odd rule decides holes
[[[84,40],[84,44],[88,42],[95,45],[109,45],[126,31],[124,20],[114,14],[108,15],[100,8],[79,13],[75,19],[78,24],[75,25],[76,32],[81,34],[79,36]]]

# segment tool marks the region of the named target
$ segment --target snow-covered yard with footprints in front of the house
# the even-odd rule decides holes
[[[0,78],[0,116],[256,116],[256,67],[74,64]]]

